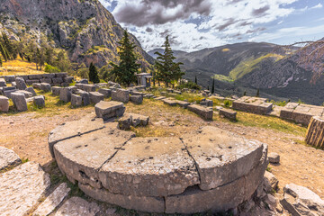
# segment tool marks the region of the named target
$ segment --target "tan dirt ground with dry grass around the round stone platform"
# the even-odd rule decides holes
[[[47,140],[49,131],[58,124],[78,120],[93,111],[94,108],[85,108],[59,112],[53,116],[40,116],[37,112],[0,115],[0,146],[14,149],[20,157],[44,166],[52,160]],[[302,135],[295,136],[277,130],[245,127],[223,121],[203,121],[191,112],[164,105],[128,105],[127,111],[150,116],[148,129],[138,131],[142,135],[178,136],[184,131],[190,132],[211,125],[237,132],[248,139],[265,142],[269,146],[269,152],[277,152],[281,156],[279,166],[270,165],[273,174],[279,179],[280,188],[284,184],[300,184],[324,199],[324,151],[296,143],[295,140],[303,139]]]

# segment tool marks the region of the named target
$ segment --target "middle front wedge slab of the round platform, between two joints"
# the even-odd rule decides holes
[[[180,139],[134,138],[103,165],[99,178],[111,193],[166,196],[199,184],[193,159]]]

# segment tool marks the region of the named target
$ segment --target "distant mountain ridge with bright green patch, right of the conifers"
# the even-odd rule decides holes
[[[194,52],[175,50],[176,61],[184,63],[184,78],[211,88],[212,77],[222,94],[261,94],[275,100],[301,99],[305,103],[324,102],[324,80],[311,84],[312,71],[297,63],[297,48],[286,50],[266,42],[243,42]],[[148,54],[152,52],[149,51]]]

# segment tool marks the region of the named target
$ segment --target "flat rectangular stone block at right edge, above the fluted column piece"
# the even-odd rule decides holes
[[[280,118],[309,125],[311,117],[323,116],[324,107],[300,103],[287,103],[280,112]]]

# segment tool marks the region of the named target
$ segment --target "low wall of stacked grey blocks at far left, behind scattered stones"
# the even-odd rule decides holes
[[[67,73],[53,73],[53,74],[37,74],[37,75],[22,75],[22,76],[0,76],[5,82],[12,83],[15,77],[22,77],[27,85],[34,83],[48,83],[50,85],[68,86],[72,83],[74,77],[67,76]]]

